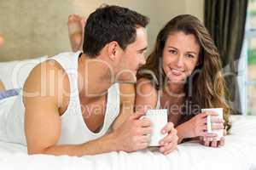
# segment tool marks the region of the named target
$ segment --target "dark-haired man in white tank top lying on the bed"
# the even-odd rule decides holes
[[[147,24],[146,17],[128,8],[97,8],[84,28],[83,54],[59,54],[32,70],[23,99],[9,113],[22,110],[17,105],[23,102],[25,115],[9,117],[21,120],[12,123],[18,133],[25,119],[29,154],[84,156],[148,147],[150,122],[140,119],[144,113],[125,108],[134,99],[124,94],[133,89],[117,83],[136,82],[137,69],[145,63]],[[174,136],[172,123],[165,128]],[[7,136],[12,142],[24,140]]]

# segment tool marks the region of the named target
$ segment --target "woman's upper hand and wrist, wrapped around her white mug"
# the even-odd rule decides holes
[[[177,127],[177,134],[180,138],[179,142],[181,142],[182,139],[200,136],[207,138],[217,137],[216,133],[207,133],[207,116],[212,116],[211,122],[214,122],[214,124],[212,124],[212,130],[224,128],[224,121],[218,119],[218,113],[212,111],[203,112]]]

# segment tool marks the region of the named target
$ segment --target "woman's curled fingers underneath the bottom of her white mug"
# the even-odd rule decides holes
[[[227,131],[224,129],[224,136],[227,134]],[[207,137],[200,137],[200,143],[209,146],[209,147],[218,147],[218,146],[223,146],[225,142],[225,138],[222,137],[219,141],[217,141],[216,138],[207,138]]]

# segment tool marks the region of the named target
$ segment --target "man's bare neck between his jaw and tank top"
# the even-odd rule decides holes
[[[113,78],[113,71],[101,56],[91,59],[83,54],[79,58],[80,97],[90,99],[106,94],[114,82]]]

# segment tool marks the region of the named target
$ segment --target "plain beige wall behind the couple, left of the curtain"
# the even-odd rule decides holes
[[[102,3],[125,6],[150,18],[149,49],[166,21],[177,14],[195,14],[203,19],[203,0],[1,0],[0,34],[5,43],[0,60],[34,58],[70,50],[68,14],[88,16]]]

